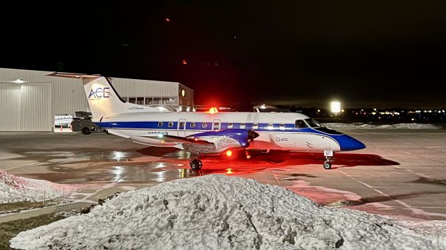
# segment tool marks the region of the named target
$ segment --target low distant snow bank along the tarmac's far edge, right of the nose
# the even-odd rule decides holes
[[[325,123],[324,126],[328,128],[405,128],[405,129],[438,129],[440,126],[433,124],[386,124],[386,125],[374,125],[374,124],[363,124],[362,122],[355,122],[352,124],[344,123]]]

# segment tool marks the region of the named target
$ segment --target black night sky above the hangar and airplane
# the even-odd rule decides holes
[[[178,81],[197,104],[446,106],[446,1],[207,2],[3,6],[0,67]]]

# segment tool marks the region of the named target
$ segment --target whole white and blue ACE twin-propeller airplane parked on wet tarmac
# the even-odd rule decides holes
[[[105,76],[60,72],[47,76],[81,79],[92,122],[139,144],[190,151],[195,155],[190,160],[194,170],[203,166],[200,156],[229,156],[237,150],[323,152],[323,168],[331,169],[334,152],[366,147],[300,113],[173,112],[123,101]]]

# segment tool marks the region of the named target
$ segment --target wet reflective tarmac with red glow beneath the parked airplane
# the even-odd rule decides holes
[[[254,178],[289,188],[324,206],[412,219],[446,219],[446,131],[339,130],[367,149],[337,153],[331,170],[323,156],[287,151],[202,157],[146,147],[105,133],[0,133],[0,168],[29,178],[82,187],[73,199],[97,201],[114,192],[205,174]]]

